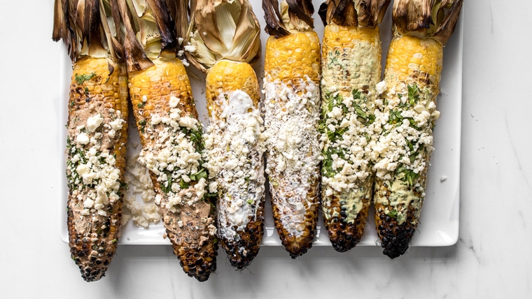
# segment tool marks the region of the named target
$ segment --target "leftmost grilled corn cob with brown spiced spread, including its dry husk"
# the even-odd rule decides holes
[[[66,103],[67,226],[71,258],[87,282],[101,279],[116,253],[127,142],[127,73],[100,13],[99,1],[55,1],[52,36],[68,45],[73,62]]]

